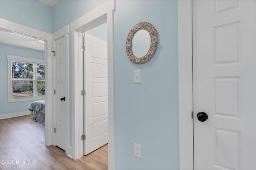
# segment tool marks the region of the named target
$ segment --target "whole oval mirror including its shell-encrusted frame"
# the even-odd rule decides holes
[[[156,29],[149,22],[140,22],[130,30],[126,39],[126,53],[133,63],[143,64],[149,61],[156,47]]]

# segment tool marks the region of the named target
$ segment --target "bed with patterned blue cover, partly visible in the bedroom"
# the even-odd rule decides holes
[[[45,108],[45,101],[44,100],[38,100],[34,101],[28,110],[31,111],[34,119],[38,123],[44,124],[44,108]]]

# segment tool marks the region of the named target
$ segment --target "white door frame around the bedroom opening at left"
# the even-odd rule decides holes
[[[52,34],[0,18],[0,28],[24,36],[44,40],[45,45],[45,144],[52,144]]]

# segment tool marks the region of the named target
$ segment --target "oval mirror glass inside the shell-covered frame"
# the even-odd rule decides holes
[[[150,47],[150,35],[147,30],[138,30],[132,38],[132,52],[138,58],[148,53]]]

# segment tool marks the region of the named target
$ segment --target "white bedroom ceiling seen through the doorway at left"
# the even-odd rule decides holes
[[[0,43],[44,51],[44,41],[0,30]]]

